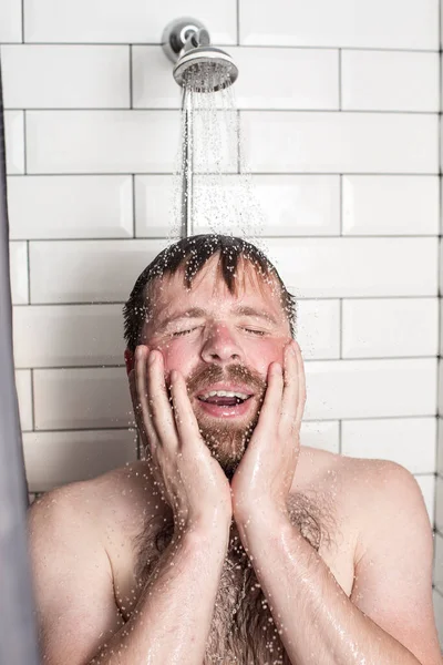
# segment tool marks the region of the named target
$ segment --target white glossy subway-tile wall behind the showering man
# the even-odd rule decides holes
[[[172,232],[182,95],[161,41],[183,13],[178,0],[0,3],[32,493],[136,459],[121,310]],[[299,297],[301,441],[408,468],[441,543],[439,0],[189,0],[185,13],[239,66],[260,246]],[[244,205],[238,155],[220,147],[220,197]]]

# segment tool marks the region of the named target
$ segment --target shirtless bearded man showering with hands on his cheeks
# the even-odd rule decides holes
[[[124,314],[144,458],[29,510],[42,662],[441,665],[420,488],[300,447],[295,301],[266,257],[181,241]]]

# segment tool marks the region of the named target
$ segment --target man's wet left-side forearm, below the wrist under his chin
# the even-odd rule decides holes
[[[227,542],[228,528],[174,536],[130,621],[91,665],[202,665]]]

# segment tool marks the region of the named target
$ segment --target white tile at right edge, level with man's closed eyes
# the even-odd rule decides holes
[[[343,300],[343,358],[436,356],[437,337],[437,298]]]

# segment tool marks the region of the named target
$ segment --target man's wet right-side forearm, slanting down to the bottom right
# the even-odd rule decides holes
[[[420,665],[364,615],[296,526],[276,513],[239,533],[291,663]]]

